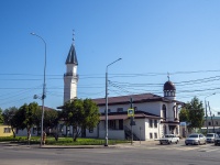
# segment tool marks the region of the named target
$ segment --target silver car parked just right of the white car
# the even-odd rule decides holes
[[[185,140],[185,144],[206,144],[206,136],[201,133],[193,133],[190,134],[186,140]]]

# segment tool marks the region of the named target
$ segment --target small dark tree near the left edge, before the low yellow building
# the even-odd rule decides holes
[[[10,107],[3,111],[4,123],[11,125],[11,130],[13,132],[13,138],[15,138],[15,130],[14,130],[14,116],[18,111],[16,107]]]

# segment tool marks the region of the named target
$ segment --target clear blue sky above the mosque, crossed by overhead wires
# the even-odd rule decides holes
[[[37,101],[47,44],[45,106],[63,105],[63,75],[73,30],[78,98],[153,92],[163,96],[169,73],[177,99],[207,97],[220,111],[219,0],[2,0],[0,1],[0,107]]]

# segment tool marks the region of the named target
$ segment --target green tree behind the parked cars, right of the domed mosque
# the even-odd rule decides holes
[[[190,102],[186,103],[186,110],[188,110],[188,128],[201,128],[204,125],[204,106],[202,101],[199,101],[197,97],[193,98]]]

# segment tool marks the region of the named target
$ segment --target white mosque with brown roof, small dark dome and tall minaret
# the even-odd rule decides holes
[[[64,74],[64,102],[77,98],[77,54],[73,42],[66,58],[66,73]],[[168,79],[163,87],[164,96],[141,94],[108,97],[108,138],[133,140],[155,140],[164,134],[180,135],[178,111],[184,102],[176,100],[176,87]],[[100,122],[96,128],[81,130],[85,138],[106,138],[106,98],[92,99],[101,113]],[[131,101],[132,100],[132,101]],[[133,109],[133,120],[128,110]],[[68,133],[73,129],[67,129]]]

